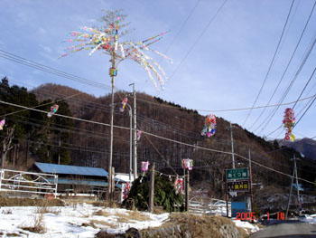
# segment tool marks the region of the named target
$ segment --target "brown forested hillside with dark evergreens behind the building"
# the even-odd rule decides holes
[[[2,141],[10,128],[14,129],[13,148],[7,151],[6,167],[30,167],[33,161],[71,164],[88,167],[105,167],[109,157],[110,96],[96,98],[69,87],[46,84],[32,92],[18,86],[10,87],[7,79],[1,82],[1,100],[26,107],[50,111],[58,104],[58,114],[89,120],[66,119],[53,116],[48,119],[41,111],[21,110],[1,104],[1,119],[6,120],[0,131]],[[129,171],[129,114],[119,111],[121,101],[126,96],[116,92],[114,125],[125,129],[114,129],[113,166],[116,172]],[[133,108],[133,97],[127,95]],[[45,106],[39,106],[45,104]],[[156,169],[165,174],[174,174],[172,169],[183,174],[181,159],[191,158],[191,185],[203,187],[209,195],[223,198],[225,169],[232,167],[229,122],[217,118],[217,132],[211,138],[200,136],[204,116],[194,109],[154,98],[144,93],[136,93],[137,129],[144,131],[137,141],[138,172],[141,161],[155,162]],[[158,136],[154,137],[153,135]],[[265,141],[256,137],[237,124],[233,125],[236,167],[248,167],[249,153],[252,163],[253,181],[265,186],[285,189],[290,177],[275,173],[265,167],[274,168],[285,174],[292,174],[294,155],[301,157],[293,148],[280,148],[278,142]],[[228,152],[228,153],[225,153]],[[4,154],[4,153],[3,153]],[[259,163],[265,167],[260,167]],[[298,174],[310,181],[315,180],[313,161],[302,158],[298,162]],[[303,183],[304,184],[304,183]],[[268,192],[268,191],[266,191]]]

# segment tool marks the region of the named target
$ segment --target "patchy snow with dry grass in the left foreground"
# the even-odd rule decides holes
[[[107,233],[125,233],[130,227],[145,229],[163,224],[169,214],[132,212],[120,208],[100,208],[92,205],[70,205],[47,207],[42,213],[45,233],[32,233],[26,227],[34,227],[41,216],[41,207],[6,206],[0,208],[0,234],[10,237],[13,233],[21,237],[94,237],[101,229]],[[24,228],[24,229],[23,229]]]

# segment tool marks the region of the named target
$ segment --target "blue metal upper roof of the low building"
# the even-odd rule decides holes
[[[78,175],[78,176],[108,176],[105,169],[101,167],[74,167],[74,166],[64,166],[56,164],[47,163],[34,163],[43,173],[50,174],[63,174],[63,175]]]

